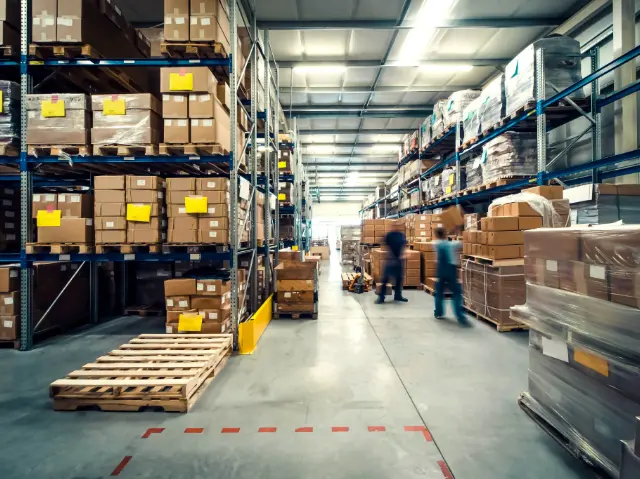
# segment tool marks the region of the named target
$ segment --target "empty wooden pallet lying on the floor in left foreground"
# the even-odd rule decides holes
[[[50,388],[56,411],[188,412],[224,368],[229,334],[143,334]]]

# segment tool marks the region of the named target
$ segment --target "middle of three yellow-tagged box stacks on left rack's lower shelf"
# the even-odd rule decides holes
[[[164,181],[157,176],[97,176],[96,244],[165,241]]]

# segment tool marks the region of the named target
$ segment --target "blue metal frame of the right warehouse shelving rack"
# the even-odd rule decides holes
[[[409,156],[403,158],[402,161],[399,162],[399,165],[406,163],[407,161],[411,161],[412,159],[428,159],[432,158],[436,155],[443,155],[445,158],[440,161],[437,165],[430,168],[428,171],[423,173],[418,177],[417,180],[405,185],[404,188],[400,188],[399,191],[394,192],[385,196],[384,198],[380,198],[370,205],[366,206],[361,210],[361,213],[368,211],[374,208],[378,203],[383,201],[393,201],[396,198],[400,200],[403,194],[410,194],[415,191],[416,188],[419,188],[422,191],[422,181],[434,175],[444,167],[455,164],[456,165],[456,182],[457,182],[457,191],[460,191],[460,168],[462,161],[467,159],[469,153],[477,150],[478,148],[483,147],[492,139],[502,135],[507,131],[511,131],[514,129],[518,129],[519,126],[522,126],[525,122],[531,122],[532,119],[535,119],[535,127],[537,133],[537,152],[538,152],[538,173],[535,178],[527,178],[518,181],[513,181],[509,184],[497,186],[494,188],[489,188],[484,191],[479,191],[476,193],[471,193],[465,195],[463,197],[456,196],[455,198],[449,198],[446,200],[438,201],[432,204],[421,204],[417,207],[412,207],[409,209],[405,209],[399,211],[397,215],[393,215],[394,217],[403,216],[410,213],[420,213],[428,210],[434,210],[437,208],[442,208],[446,206],[451,206],[455,204],[459,204],[461,202],[465,203],[476,203],[476,202],[486,202],[490,198],[501,195],[501,194],[509,194],[513,192],[517,192],[523,188],[527,188],[532,184],[544,184],[547,181],[557,180],[561,181],[566,185],[577,185],[582,183],[598,183],[605,179],[615,178],[619,176],[628,175],[631,173],[640,172],[640,163],[634,164],[631,166],[623,166],[626,162],[631,160],[640,159],[640,149],[635,149],[626,153],[616,154],[607,158],[602,158],[602,119],[601,119],[601,111],[602,109],[614,103],[621,98],[624,98],[628,95],[631,95],[637,91],[640,91],[640,81],[636,81],[618,91],[614,91],[612,93],[603,95],[601,94],[600,89],[600,80],[607,74],[614,71],[616,68],[624,65],[625,63],[634,60],[635,58],[640,56],[640,46],[637,46],[627,52],[626,54],[614,59],[613,61],[607,63],[606,65],[600,67],[599,66],[599,58],[600,51],[599,46],[594,46],[590,49],[586,55],[586,58],[590,60],[591,63],[591,73],[585,76],[579,82],[571,85],[568,88],[565,88],[562,91],[555,91],[555,94],[546,98],[546,82],[544,78],[544,51],[539,49],[536,51],[536,102],[535,107],[532,109],[528,109],[523,113],[517,115],[511,121],[506,122],[502,127],[495,129],[492,133],[486,135],[485,137],[479,139],[478,141],[468,145],[465,149],[460,147],[460,138],[462,133],[462,125],[458,123],[454,128],[450,129],[445,133],[441,138],[437,141],[431,143],[423,152],[418,155]],[[585,112],[582,108],[573,102],[569,96],[582,88],[590,86],[591,87],[591,95],[590,95],[590,108],[588,112]],[[547,159],[548,153],[548,144],[547,144],[547,134],[549,132],[549,128],[547,125],[546,112],[556,105],[560,101],[566,101],[571,106],[574,107],[574,112],[571,115],[568,115],[565,122],[560,122],[556,124],[556,126],[560,126],[561,124],[566,124],[569,121],[572,121],[579,117],[585,117],[589,121],[589,126],[583,130],[579,135],[570,138],[567,142],[567,146],[561,150],[551,161]],[[557,171],[549,171],[550,167],[562,156],[567,154],[573,146],[575,146],[578,141],[583,138],[587,133],[591,132],[591,143],[592,143],[592,156],[593,161],[572,166],[569,168],[565,168]],[[451,144],[451,140],[453,135],[455,135],[455,142],[452,143],[450,148],[444,148],[443,144]],[[616,168],[617,167],[617,168]],[[607,171],[601,171],[605,168],[612,168]],[[417,182],[417,186],[416,183]]]

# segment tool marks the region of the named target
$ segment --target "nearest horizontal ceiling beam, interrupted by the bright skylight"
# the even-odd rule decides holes
[[[463,18],[439,20],[432,28],[525,28],[557,27],[562,18]],[[274,20],[259,21],[258,28],[265,30],[411,30],[414,23],[397,24],[396,20]]]

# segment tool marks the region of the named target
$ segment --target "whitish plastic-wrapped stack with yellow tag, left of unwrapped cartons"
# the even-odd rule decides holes
[[[100,146],[157,145],[162,130],[161,108],[148,93],[91,95],[94,154],[100,154]]]

